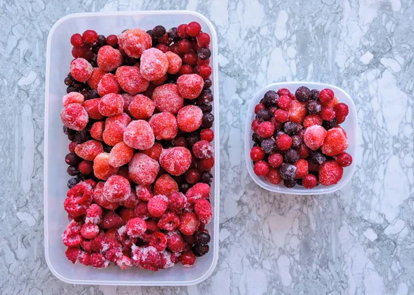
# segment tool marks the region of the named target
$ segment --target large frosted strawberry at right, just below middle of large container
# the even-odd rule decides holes
[[[159,156],[159,163],[168,173],[179,176],[190,167],[191,152],[184,147],[163,150]]]

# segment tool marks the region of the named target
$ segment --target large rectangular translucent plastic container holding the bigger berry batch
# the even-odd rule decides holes
[[[66,246],[61,236],[68,225],[68,214],[63,209],[69,176],[66,174],[65,155],[69,141],[62,132],[60,112],[63,108],[61,98],[66,94],[63,79],[69,72],[72,60],[70,36],[75,32],[96,30],[99,34],[120,34],[128,28],[149,30],[157,25],[167,29],[181,23],[197,21],[204,32],[210,34],[210,66],[214,95],[213,114],[215,122],[214,181],[211,185],[210,201],[213,205],[212,221],[206,226],[212,240],[210,251],[197,258],[195,265],[188,269],[175,265],[158,272],[130,267],[121,270],[111,266],[107,269],[94,269],[80,263],[72,264],[65,256]],[[190,11],[139,11],[103,12],[70,14],[63,17],[52,27],[48,36],[46,58],[46,97],[45,97],[45,134],[44,134],[44,236],[46,263],[50,271],[66,283],[92,285],[193,285],[204,281],[215,269],[219,254],[219,83],[217,66],[217,34],[212,23],[203,15]]]

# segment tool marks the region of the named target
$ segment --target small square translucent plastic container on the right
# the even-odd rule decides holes
[[[268,92],[269,90],[279,90],[279,88],[287,88],[290,90],[290,92],[295,93],[295,90],[299,88],[300,86],[306,86],[309,89],[317,89],[322,90],[324,88],[331,88],[333,92],[335,93],[335,96],[337,96],[337,99],[340,103],[346,103],[349,107],[349,114],[346,116],[346,120],[344,123],[341,124],[342,128],[346,131],[346,134],[348,135],[348,148],[346,149],[346,152],[351,154],[353,156],[353,163],[348,166],[344,167],[344,175],[342,176],[342,179],[337,183],[336,185],[330,185],[330,186],[323,186],[318,185],[317,187],[314,187],[311,190],[307,190],[306,188],[295,185],[295,187],[288,188],[284,187],[284,185],[273,185],[271,183],[268,183],[264,180],[264,177],[259,177],[253,172],[253,161],[250,159],[250,150],[253,148],[253,141],[252,141],[252,135],[253,131],[251,130],[251,123],[255,119],[255,105],[259,103],[259,101],[263,98],[264,94]],[[341,88],[338,88],[333,85],[328,85],[324,83],[313,83],[313,82],[282,82],[282,83],[274,83],[267,85],[265,88],[262,88],[259,92],[253,96],[253,99],[250,101],[250,104],[248,105],[247,115],[246,115],[246,130],[244,132],[244,155],[246,157],[246,165],[247,165],[247,171],[248,174],[250,174],[250,177],[259,185],[260,187],[263,187],[265,190],[268,190],[270,192],[278,192],[280,194],[302,194],[302,195],[311,195],[311,194],[329,194],[331,192],[336,192],[337,190],[340,190],[348,181],[351,180],[353,173],[355,171],[355,165],[357,163],[357,140],[358,140],[358,121],[357,121],[357,109],[355,108],[355,103],[353,103],[353,100],[351,99],[351,96],[349,96],[344,90]]]

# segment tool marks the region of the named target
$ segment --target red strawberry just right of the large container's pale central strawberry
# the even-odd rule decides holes
[[[155,139],[174,139],[177,136],[177,119],[170,112],[153,114],[148,121],[154,131]]]

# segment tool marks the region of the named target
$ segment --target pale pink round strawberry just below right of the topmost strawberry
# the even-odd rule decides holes
[[[168,70],[166,54],[157,48],[145,50],[141,55],[139,70],[141,76],[148,81],[160,79]]]

